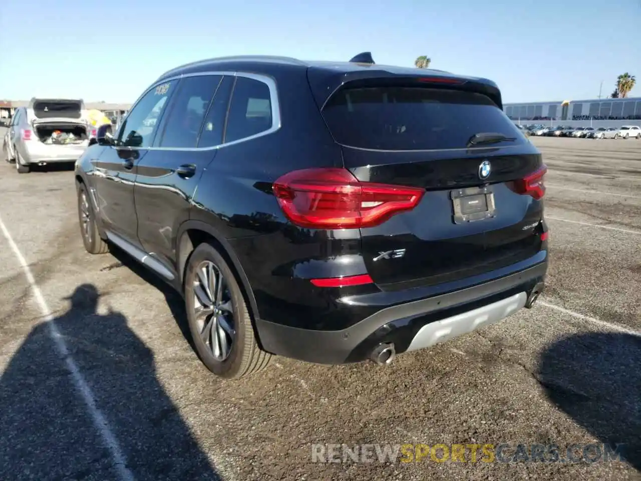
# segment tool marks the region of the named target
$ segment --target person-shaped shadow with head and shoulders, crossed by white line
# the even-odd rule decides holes
[[[97,314],[94,285],[67,299],[71,308],[53,321],[67,352],[40,323],[0,378],[0,479],[119,479],[110,430],[137,481],[219,480],[127,319]],[[86,387],[78,388],[76,367]],[[87,388],[95,407],[83,398]],[[96,410],[107,426],[97,425]]]

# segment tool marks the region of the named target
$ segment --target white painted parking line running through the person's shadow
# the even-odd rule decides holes
[[[127,468],[126,459],[122,453],[120,444],[118,443],[115,435],[113,435],[113,432],[109,424],[107,423],[107,420],[97,408],[96,397],[91,391],[91,388],[87,384],[87,381],[83,377],[82,373],[78,369],[78,365],[74,361],[73,357],[71,357],[71,355],[69,354],[67,344],[65,343],[62,335],[60,335],[60,331],[58,331],[58,328],[56,327],[53,315],[51,314],[51,309],[49,309],[49,306],[47,306],[47,303],[44,300],[44,296],[42,296],[42,292],[40,291],[40,287],[38,287],[35,279],[33,278],[33,274],[31,274],[31,269],[29,269],[27,261],[22,255],[20,249],[18,249],[18,246],[15,244],[15,242],[13,242],[13,238],[4,225],[2,217],[0,217],[0,230],[2,230],[4,238],[9,243],[9,246],[15,254],[15,257],[17,257],[18,262],[20,262],[20,265],[22,266],[24,275],[26,276],[27,281],[31,286],[33,296],[38,304],[38,307],[40,307],[40,311],[42,312],[44,321],[49,328],[49,337],[51,337],[52,341],[54,342],[56,350],[58,351],[60,357],[64,359],[65,365],[69,370],[69,374],[71,374],[71,378],[76,385],[76,389],[78,389],[78,392],[82,396],[83,401],[85,401],[85,404],[87,405],[87,410],[89,411],[92,421],[94,422],[94,426],[96,426],[96,429],[103,438],[106,448],[112,455],[113,464],[118,472],[119,480],[133,481],[135,478],[133,477],[133,473],[131,473],[131,471],[129,471],[129,469]]]

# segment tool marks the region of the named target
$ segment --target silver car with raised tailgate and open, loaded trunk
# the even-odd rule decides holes
[[[75,162],[87,149],[90,130],[82,100],[33,98],[16,109],[4,135],[4,155],[21,174],[31,165]]]

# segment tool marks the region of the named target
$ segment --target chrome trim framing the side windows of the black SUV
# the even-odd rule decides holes
[[[272,78],[271,76],[265,75],[265,74],[254,74],[251,72],[238,72],[238,71],[207,71],[207,72],[192,72],[189,74],[180,74],[174,77],[169,77],[169,78],[163,78],[162,80],[157,80],[149,88],[147,88],[140,97],[136,99],[136,101],[133,103],[131,108],[129,108],[129,112],[127,115],[129,115],[130,112],[133,111],[133,109],[136,108],[140,100],[144,96],[149,93],[149,90],[155,89],[158,87],[158,85],[162,85],[163,83],[167,83],[169,81],[174,81],[174,80],[180,80],[181,78],[188,78],[188,77],[199,77],[199,76],[205,76],[205,75],[222,75],[222,76],[230,76],[230,77],[246,77],[246,78],[251,78],[253,80],[260,81],[262,83],[265,83],[267,85],[267,88],[269,89],[269,101],[272,106],[272,126],[264,130],[260,133],[256,133],[254,135],[250,135],[249,137],[243,137],[242,139],[237,139],[233,140],[231,142],[225,142],[224,144],[218,144],[215,146],[210,146],[210,147],[127,147],[127,146],[115,146],[116,148],[119,149],[128,149],[128,150],[169,150],[169,151],[180,151],[180,152],[192,152],[192,151],[206,151],[206,150],[216,150],[220,149],[223,147],[227,146],[233,146],[236,144],[240,144],[240,142],[247,142],[247,140],[253,140],[253,139],[258,139],[258,137],[263,137],[264,135],[269,135],[271,133],[274,133],[281,128],[281,115],[280,115],[280,103],[278,101],[278,87],[276,87],[276,80]],[[231,95],[233,96],[233,90],[231,92]],[[120,128],[122,126],[119,126],[119,132],[118,135],[120,135]]]

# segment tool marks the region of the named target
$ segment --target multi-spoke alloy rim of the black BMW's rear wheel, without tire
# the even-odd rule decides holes
[[[193,289],[194,319],[200,339],[214,359],[223,361],[229,357],[236,337],[229,286],[221,270],[205,260],[196,269]]]

